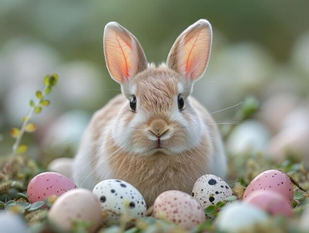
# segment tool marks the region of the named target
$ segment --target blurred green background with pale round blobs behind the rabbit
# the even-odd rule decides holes
[[[120,92],[106,69],[104,26],[117,21],[142,44],[149,62],[166,60],[177,36],[200,18],[213,26],[205,76],[193,95],[210,112],[254,98],[259,110],[233,125],[241,104],[213,114],[230,156],[309,157],[309,1],[247,0],[1,0],[0,156],[11,152],[43,78],[59,81],[39,128],[23,139],[33,158],[73,156],[94,111]]]

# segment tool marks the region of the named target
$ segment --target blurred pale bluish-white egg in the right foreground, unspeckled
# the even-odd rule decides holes
[[[218,215],[215,225],[220,232],[238,233],[248,231],[256,225],[268,223],[268,215],[251,204],[241,202],[226,205]]]

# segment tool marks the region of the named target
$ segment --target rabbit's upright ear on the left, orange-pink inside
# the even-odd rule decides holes
[[[104,30],[104,54],[107,68],[120,84],[147,68],[147,59],[141,44],[125,28],[110,22]]]

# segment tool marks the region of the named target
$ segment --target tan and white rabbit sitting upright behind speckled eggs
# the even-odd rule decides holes
[[[77,186],[124,180],[148,206],[166,190],[192,193],[204,174],[226,176],[217,125],[192,96],[204,75],[212,28],[200,19],[176,39],[166,64],[148,64],[139,41],[116,22],[104,30],[108,71],[122,94],[92,117],[74,159]]]

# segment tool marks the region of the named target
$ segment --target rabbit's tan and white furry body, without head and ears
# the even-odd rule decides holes
[[[193,98],[191,104],[204,122],[201,144],[190,152],[176,155],[157,153],[151,156],[130,155],[116,146],[112,126],[117,113],[111,111],[127,104],[123,95],[112,99],[92,118],[80,144],[74,163],[77,186],[92,189],[106,179],[121,179],[135,186],[148,205],[166,190],[191,194],[193,184],[204,174],[226,175],[226,157],[220,135],[206,110]],[[211,140],[209,140],[211,139]]]

